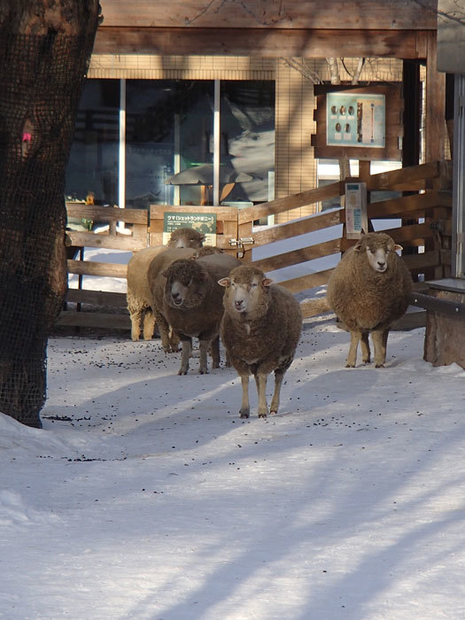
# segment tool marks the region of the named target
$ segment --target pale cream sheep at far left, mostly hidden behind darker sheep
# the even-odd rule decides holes
[[[151,294],[147,282],[147,271],[151,260],[167,248],[202,247],[205,235],[190,228],[175,229],[167,245],[156,245],[135,252],[128,262],[128,311],[131,319],[131,338],[138,340],[143,331],[143,339],[151,340],[155,329],[155,315],[151,310]]]

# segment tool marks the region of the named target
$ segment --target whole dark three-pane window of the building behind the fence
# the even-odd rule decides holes
[[[66,195],[118,204],[119,80],[85,83]],[[126,206],[200,205],[213,191],[212,80],[126,81]],[[221,199],[269,199],[275,163],[275,83],[221,81]],[[174,174],[181,180],[167,183]],[[198,177],[198,178],[197,178]]]

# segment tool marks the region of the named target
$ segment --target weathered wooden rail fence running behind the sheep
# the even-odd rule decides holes
[[[400,225],[385,230],[396,243],[404,247],[403,259],[415,279],[438,279],[450,275],[452,247],[452,193],[450,191],[450,162],[432,162],[381,174],[369,174],[360,162],[360,177],[346,179],[363,181],[368,189],[368,224],[376,220],[392,219]],[[67,204],[68,218],[109,222],[104,234],[68,231],[71,251],[83,247],[102,247],[122,252],[136,252],[147,245],[162,244],[165,212],[216,213],[217,244],[246,262],[253,262],[264,271],[291,267],[308,260],[329,255],[340,255],[355,241],[345,237],[345,209],[337,208],[316,213],[304,219],[289,221],[266,229],[254,229],[253,222],[277,213],[289,212],[304,205],[319,205],[329,198],[343,197],[345,182],[334,182],[322,188],[308,190],[294,196],[278,198],[268,203],[237,210],[226,206],[172,206],[151,205],[150,213],[137,209],[96,207]],[[382,202],[369,201],[370,192],[379,190],[399,192],[399,198]],[[124,221],[129,235],[121,235],[117,221]],[[341,226],[342,235],[322,243],[284,252],[261,260],[252,260],[252,249],[306,233]],[[421,248],[421,252],[418,250]],[[68,260],[68,271],[80,279],[85,275],[126,277],[126,265],[99,263],[89,260]],[[292,292],[306,291],[328,282],[332,269],[293,278],[282,282]],[[85,281],[78,289],[70,289],[66,310],[58,318],[60,325],[130,329],[127,314],[105,313],[103,308],[123,308],[126,295],[110,291],[86,291]],[[73,307],[70,307],[73,304]],[[74,306],[75,305],[75,306]],[[88,307],[89,306],[89,307]],[[82,312],[82,309],[91,311]],[[310,306],[302,304],[304,315],[310,315]]]

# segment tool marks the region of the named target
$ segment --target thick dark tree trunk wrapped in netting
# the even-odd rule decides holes
[[[65,170],[98,0],[0,0],[0,412],[40,427],[66,294]]]

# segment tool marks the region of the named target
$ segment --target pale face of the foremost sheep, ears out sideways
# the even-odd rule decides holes
[[[228,278],[218,281],[226,287],[224,305],[237,314],[256,314],[267,308],[268,287],[273,281],[253,267],[236,267]],[[260,314],[260,313],[259,313]]]

